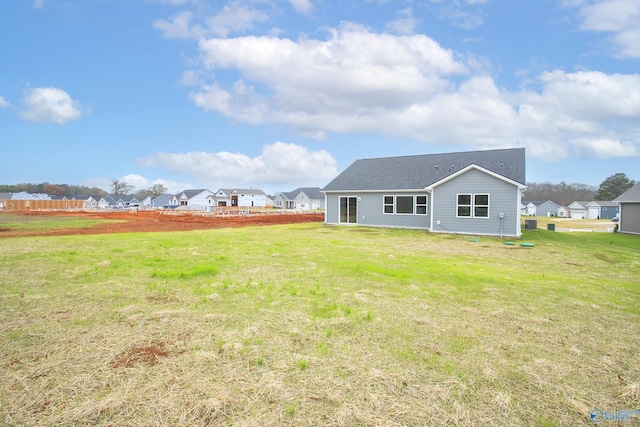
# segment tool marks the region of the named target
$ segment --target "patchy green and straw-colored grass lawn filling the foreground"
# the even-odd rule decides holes
[[[575,426],[640,409],[640,237],[522,241],[318,223],[0,239],[0,423]]]

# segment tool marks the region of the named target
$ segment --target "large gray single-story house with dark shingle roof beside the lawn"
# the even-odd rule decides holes
[[[323,188],[325,223],[520,236],[525,149],[360,159]]]

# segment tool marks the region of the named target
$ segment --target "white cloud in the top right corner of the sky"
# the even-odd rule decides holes
[[[613,54],[640,57],[640,2],[638,0],[584,0],[565,3],[578,7],[580,29],[610,34]]]

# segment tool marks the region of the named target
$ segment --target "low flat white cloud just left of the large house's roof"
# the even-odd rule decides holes
[[[163,166],[187,172],[212,190],[239,186],[323,185],[337,175],[337,162],[325,150],[284,142],[267,144],[257,157],[220,151],[156,153],[138,160],[141,166]]]

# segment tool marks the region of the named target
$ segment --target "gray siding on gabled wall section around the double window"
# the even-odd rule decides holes
[[[458,194],[489,194],[489,218],[457,218]],[[476,169],[433,190],[433,230],[443,233],[519,236],[518,187]],[[499,214],[504,213],[504,219]],[[440,221],[440,224],[437,222]]]

